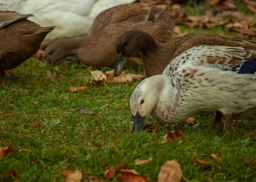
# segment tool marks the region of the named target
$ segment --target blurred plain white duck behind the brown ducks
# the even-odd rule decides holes
[[[87,35],[95,17],[102,11],[135,0],[0,0],[0,10],[33,14],[28,20],[42,27],[56,26],[42,47],[59,39]]]

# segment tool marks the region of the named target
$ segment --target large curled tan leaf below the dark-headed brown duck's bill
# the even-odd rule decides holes
[[[132,82],[132,80],[143,79],[143,75],[136,75],[130,74],[123,71],[119,76],[114,76],[114,70],[101,72],[97,71],[90,71],[92,81],[102,81],[107,83],[124,83],[124,82]],[[92,82],[91,81],[91,82]]]

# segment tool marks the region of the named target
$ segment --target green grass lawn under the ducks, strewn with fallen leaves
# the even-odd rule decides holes
[[[182,29],[195,32],[224,34],[219,28]],[[177,126],[186,141],[161,144],[165,127],[151,118],[147,124],[157,124],[162,131],[133,134],[129,96],[140,81],[131,83],[87,83],[89,70],[82,65],[65,63],[58,81],[46,77],[46,70],[55,72],[56,65],[30,58],[16,68],[19,78],[9,77],[0,85],[0,147],[14,141],[14,148],[30,149],[9,153],[0,158],[0,177],[15,170],[21,181],[64,181],[63,169],[79,169],[83,179],[103,177],[106,166],[128,163],[140,175],[157,181],[162,164],[178,159],[184,177],[196,181],[256,181],[255,132],[256,118],[234,123],[235,132],[224,134],[212,130],[214,114],[199,113],[195,130]],[[102,70],[112,68],[104,67]],[[143,68],[127,66],[131,73],[143,73]],[[69,87],[86,86],[86,90],[71,93]],[[87,108],[96,115],[76,114],[75,107]],[[87,147],[98,147],[90,151]],[[221,162],[201,154],[216,154]],[[153,161],[135,166],[136,158]],[[209,167],[195,166],[193,158],[211,161]],[[14,177],[5,181],[13,181]],[[17,180],[17,179],[16,179]],[[112,181],[117,181],[114,178]]]

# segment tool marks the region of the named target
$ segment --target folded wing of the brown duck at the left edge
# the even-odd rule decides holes
[[[11,11],[0,11],[0,29],[20,19],[26,19],[33,15],[21,15]]]

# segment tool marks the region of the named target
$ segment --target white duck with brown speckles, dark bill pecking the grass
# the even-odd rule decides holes
[[[148,115],[176,124],[197,112],[221,112],[225,131],[231,131],[233,119],[256,115],[255,56],[256,51],[229,46],[196,46],[183,52],[161,75],[144,79],[133,91],[133,131],[143,129]]]

